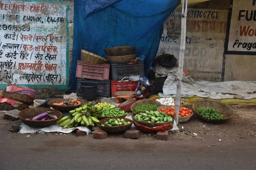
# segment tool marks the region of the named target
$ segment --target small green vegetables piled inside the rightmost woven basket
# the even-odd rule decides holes
[[[195,108],[196,111],[198,111],[204,118],[207,120],[214,120],[214,119],[226,119],[225,116],[223,116],[221,113],[219,113],[214,108],[208,107],[208,108]]]

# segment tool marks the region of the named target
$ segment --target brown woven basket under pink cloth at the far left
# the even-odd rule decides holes
[[[30,104],[30,105],[32,105],[34,103],[33,97],[26,95],[26,94],[10,93],[10,92],[6,91],[6,88],[2,92],[2,96],[12,99],[12,100]]]

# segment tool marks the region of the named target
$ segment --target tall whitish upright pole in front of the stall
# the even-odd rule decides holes
[[[182,83],[182,77],[183,77],[184,53],[185,53],[185,47],[186,47],[185,39],[186,39],[187,7],[188,7],[188,1],[182,0],[180,58],[179,58],[179,67],[177,70],[177,91],[176,91],[176,102],[175,102],[175,120],[177,125],[179,124],[180,94],[181,94],[181,83]]]

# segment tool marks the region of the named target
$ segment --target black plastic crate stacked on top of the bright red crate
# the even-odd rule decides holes
[[[132,75],[145,76],[143,61],[135,64],[111,64],[112,80],[121,80],[124,77],[130,77]]]

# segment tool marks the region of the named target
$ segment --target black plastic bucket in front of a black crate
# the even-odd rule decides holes
[[[96,99],[98,83],[96,82],[83,82],[81,83],[82,98],[92,101]]]

